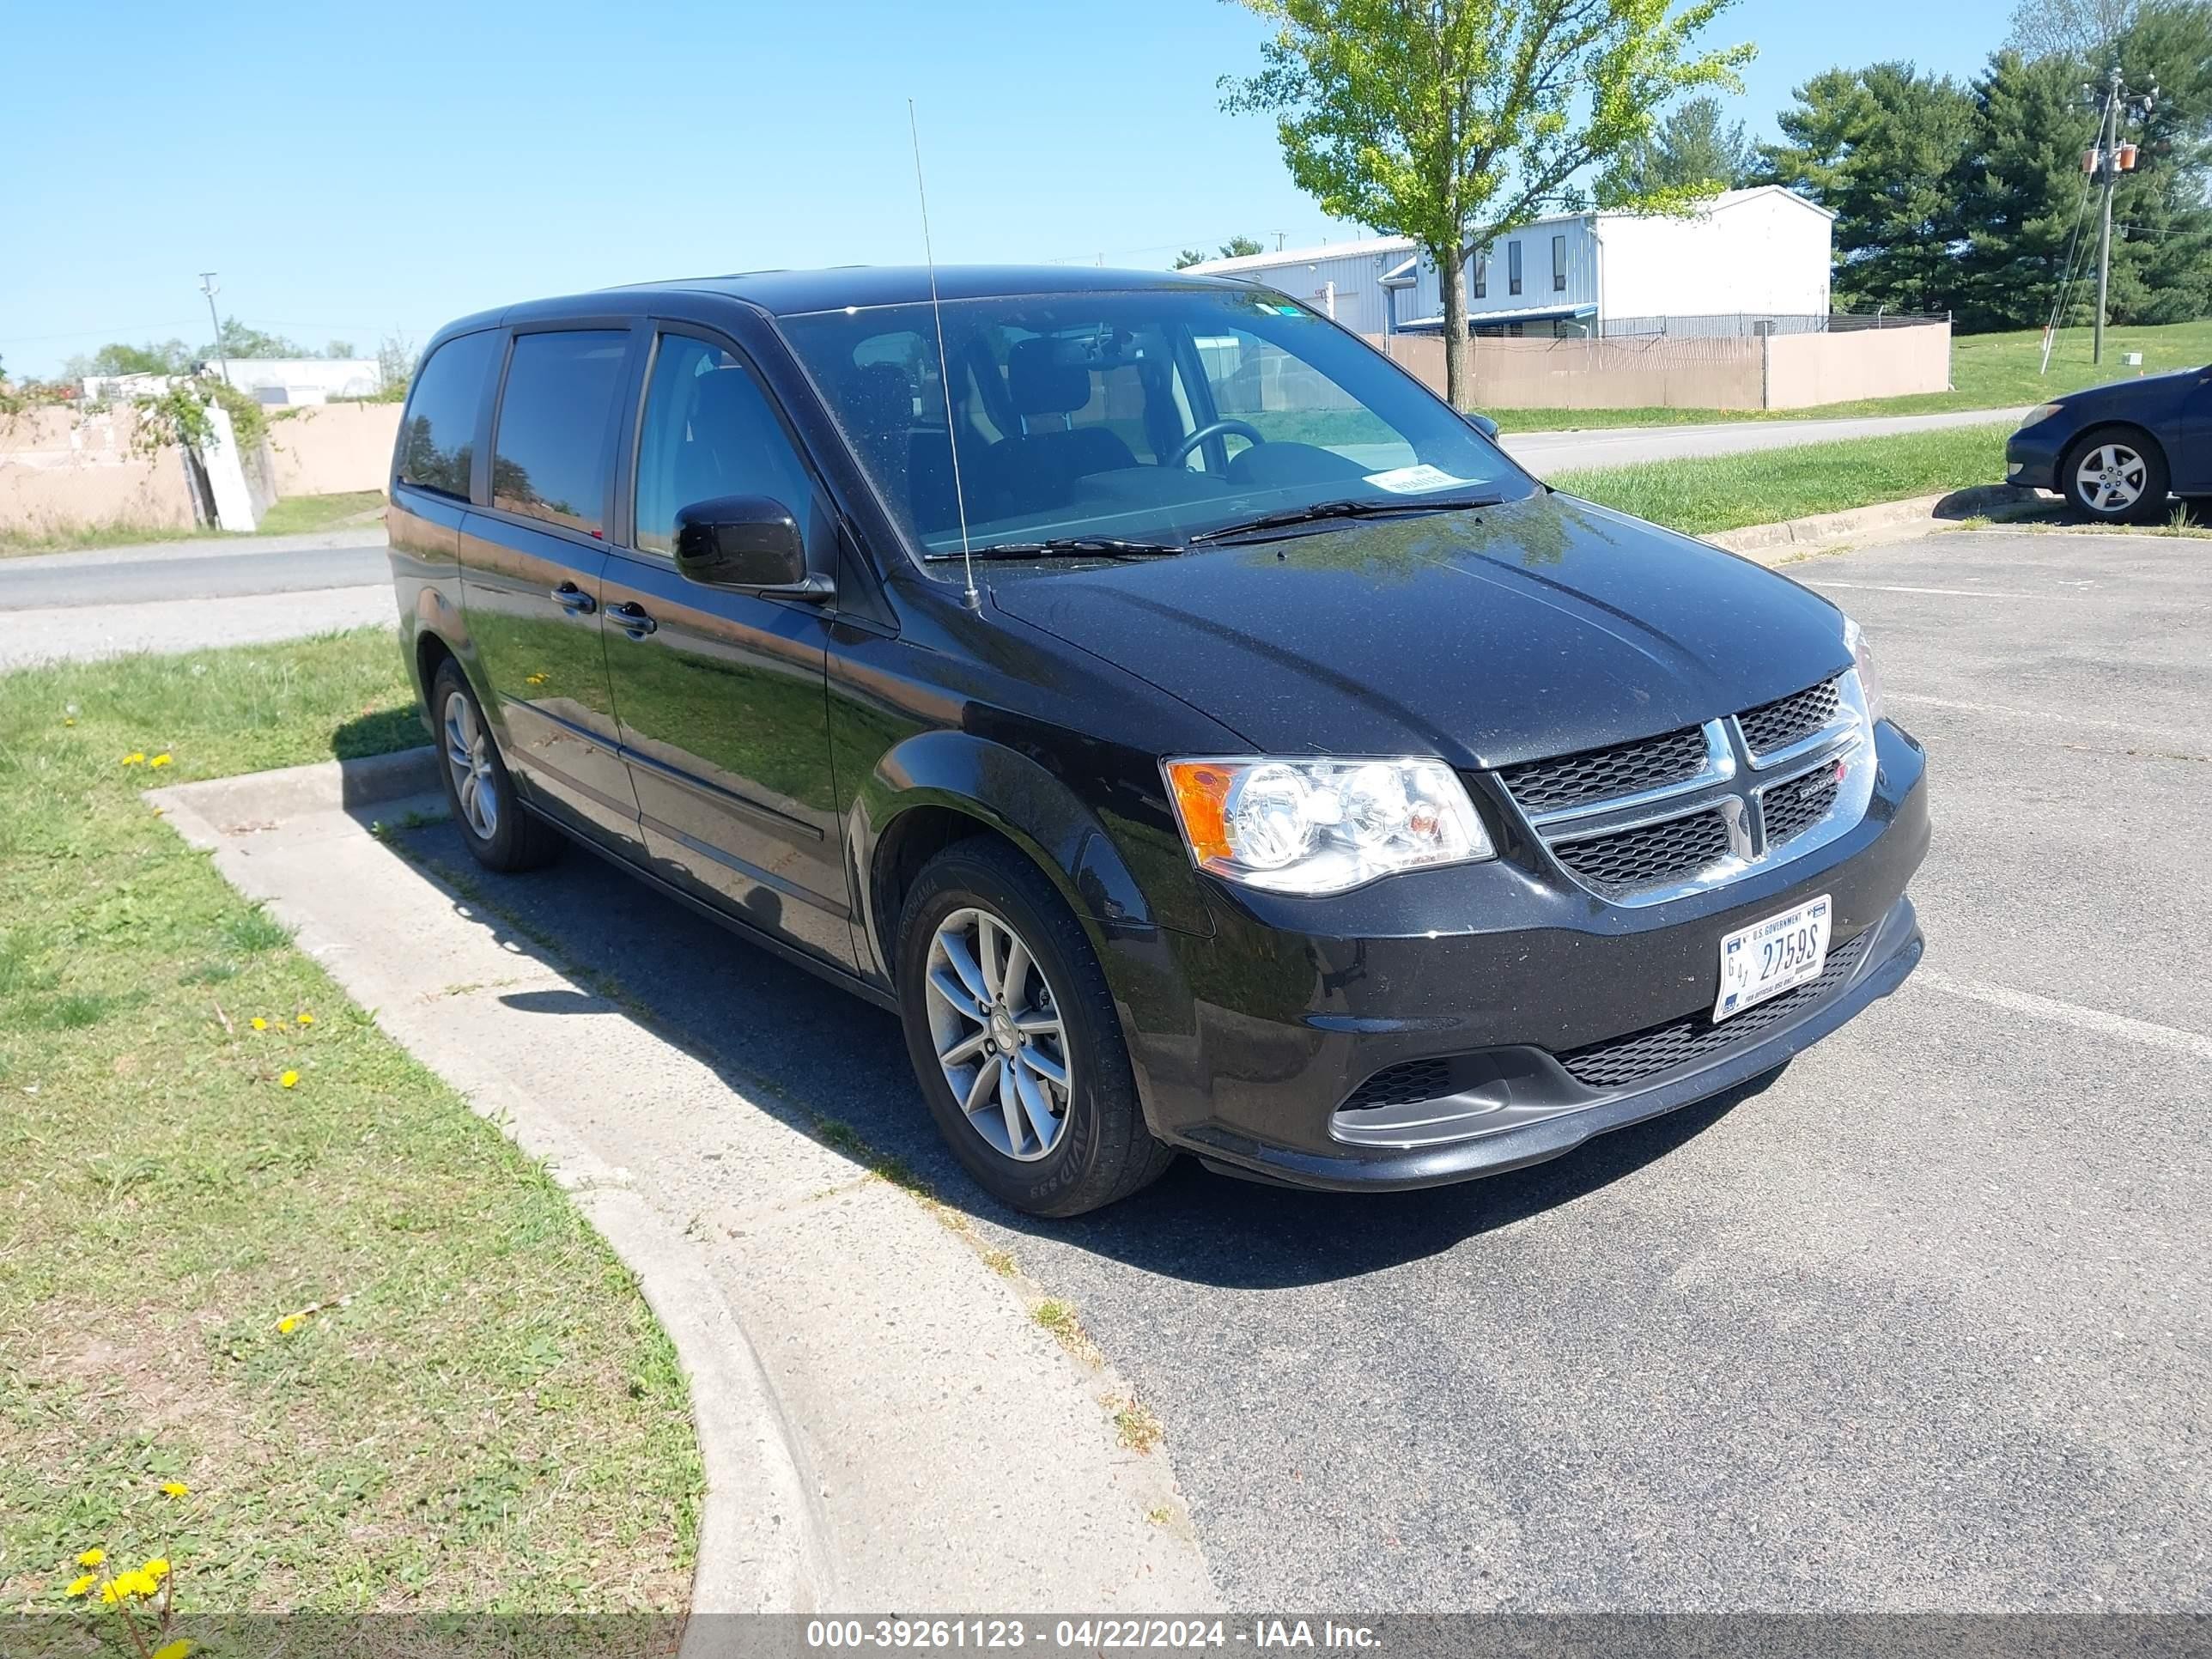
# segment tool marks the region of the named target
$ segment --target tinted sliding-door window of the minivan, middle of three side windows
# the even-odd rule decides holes
[[[586,535],[606,531],[619,330],[518,334],[491,447],[491,504]]]

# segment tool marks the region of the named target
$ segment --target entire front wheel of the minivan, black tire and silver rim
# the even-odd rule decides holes
[[[898,922],[898,1006],[938,1133],[1000,1203],[1084,1214],[1175,1161],[1144,1124],[1091,940],[1002,841],[922,867]]]

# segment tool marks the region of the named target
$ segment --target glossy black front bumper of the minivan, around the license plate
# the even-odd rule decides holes
[[[1221,894],[1212,938],[1161,931],[1108,967],[1152,1133],[1259,1179],[1420,1188],[1537,1164],[1772,1071],[1920,960],[1905,887],[1929,845],[1924,761],[1889,723],[1876,757],[1856,830],[1659,907],[1608,905],[1515,847],[1332,902]],[[1818,894],[1847,967],[1759,1020],[1703,1022],[1721,936]],[[1683,1060],[1630,1066],[1628,1082],[1577,1060],[1655,1033],[1666,1062],[1686,1022],[1701,1035]],[[1405,1068],[1438,1075],[1438,1093],[1398,1115],[1347,1110]]]

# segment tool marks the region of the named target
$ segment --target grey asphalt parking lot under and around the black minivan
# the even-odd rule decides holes
[[[889,1015],[584,856],[471,880],[1073,1301],[1230,1606],[2205,1610],[2212,542],[1790,575],[1929,745],[1927,962],[1761,1088],[1486,1183],[1183,1164],[1029,1223],[942,1152]]]

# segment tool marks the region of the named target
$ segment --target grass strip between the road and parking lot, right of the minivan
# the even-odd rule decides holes
[[[1809,513],[2004,482],[2008,427],[1947,427],[1889,438],[1759,449],[1553,473],[1555,489],[1655,524],[1712,535]]]

